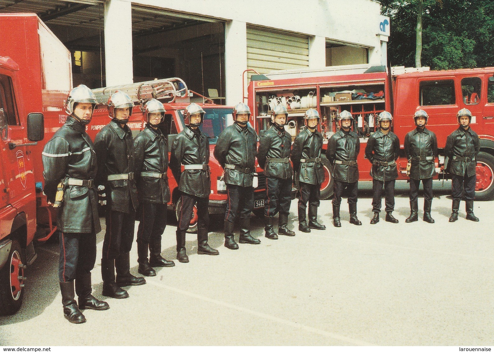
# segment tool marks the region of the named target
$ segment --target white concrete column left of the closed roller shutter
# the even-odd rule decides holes
[[[236,105],[242,101],[244,70],[247,70],[247,25],[245,22],[229,21],[225,24],[226,105]],[[246,90],[247,83],[246,80]]]

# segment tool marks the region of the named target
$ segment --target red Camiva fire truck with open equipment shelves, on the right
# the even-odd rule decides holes
[[[248,85],[248,105],[256,131],[268,127],[271,108],[284,104],[288,108],[285,127],[294,139],[303,125],[303,115],[309,108],[321,115],[321,132],[326,144],[337,131],[337,115],[349,111],[354,117],[352,129],[359,134],[360,180],[371,180],[371,163],[365,160],[367,139],[378,129],[377,117],[384,110],[393,114],[393,130],[405,140],[407,132],[415,128],[413,114],[422,109],[429,115],[427,128],[437,135],[440,153],[446,137],[458,127],[456,113],[461,108],[472,112],[472,128],[479,134],[481,151],[477,156],[476,198],[494,198],[494,67],[450,71],[429,71],[428,68],[405,69],[385,66],[349,65],[321,70],[280,71],[252,75]],[[403,144],[398,159],[399,179],[406,180],[407,158]],[[330,165],[323,158],[326,181],[321,186],[321,197],[332,194]],[[441,179],[449,179],[443,172],[444,155],[436,160]]]

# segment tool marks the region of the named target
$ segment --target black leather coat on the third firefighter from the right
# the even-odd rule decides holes
[[[381,162],[396,161],[400,155],[400,140],[398,136],[389,131],[387,134],[378,131],[371,134],[367,140],[366,157],[372,164],[371,176],[375,180],[389,181],[398,178],[396,162],[391,165],[375,164],[374,160]]]

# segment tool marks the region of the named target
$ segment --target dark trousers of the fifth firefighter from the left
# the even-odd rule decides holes
[[[225,220],[232,223],[237,218],[237,211],[242,219],[248,219],[254,208],[254,188],[226,184],[228,200],[226,202]]]

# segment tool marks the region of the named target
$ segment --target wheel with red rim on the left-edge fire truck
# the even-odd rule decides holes
[[[25,250],[17,240],[12,240],[7,262],[0,270],[0,315],[16,313],[24,298],[26,280]]]

